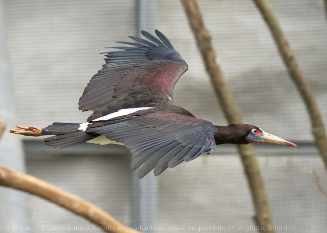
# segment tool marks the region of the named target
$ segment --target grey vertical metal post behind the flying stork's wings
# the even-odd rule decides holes
[[[137,0],[136,35],[140,31],[153,33],[156,27],[157,0]],[[132,210],[131,225],[134,227],[150,227],[157,222],[157,178],[150,173],[138,179],[137,171],[132,172]],[[144,233],[153,233],[151,228],[140,229]]]

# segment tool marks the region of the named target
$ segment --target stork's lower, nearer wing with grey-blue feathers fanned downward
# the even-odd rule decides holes
[[[158,176],[166,168],[190,161],[216,146],[212,123],[177,113],[151,113],[118,123],[92,122],[86,132],[126,144],[133,155],[131,169],[143,165],[139,178],[152,169]]]

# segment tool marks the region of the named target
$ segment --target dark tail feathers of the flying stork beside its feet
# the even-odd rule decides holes
[[[44,135],[54,135],[53,137],[46,138],[44,143],[55,148],[65,148],[99,136],[97,134],[87,134],[79,128],[80,124],[78,123],[54,122],[52,125],[42,129]]]

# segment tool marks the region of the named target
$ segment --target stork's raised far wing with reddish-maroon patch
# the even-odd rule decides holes
[[[103,69],[94,75],[79,100],[79,109],[92,110],[93,120],[122,108],[152,106],[172,101],[179,77],[187,63],[158,30],[155,37],[141,31],[148,40],[130,37],[138,43],[106,53]]]

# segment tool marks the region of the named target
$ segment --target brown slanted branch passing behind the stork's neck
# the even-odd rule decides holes
[[[242,123],[240,110],[228,89],[223,74],[217,64],[216,54],[211,44],[209,32],[204,26],[204,22],[195,0],[181,0],[186,14],[189,19],[190,26],[193,30],[197,45],[201,51],[207,72],[215,88],[220,105],[224,111],[229,123]],[[254,217],[256,223],[264,230],[261,232],[273,233],[269,228],[272,224],[272,214],[270,211],[268,197],[265,185],[260,174],[260,168],[255,156],[253,146],[239,145],[238,151],[242,159],[244,171],[251,189],[252,199],[256,211]]]

